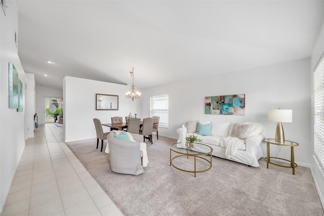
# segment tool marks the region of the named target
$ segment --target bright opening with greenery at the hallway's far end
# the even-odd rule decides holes
[[[58,122],[55,116],[63,113],[63,98],[45,98],[45,123]]]

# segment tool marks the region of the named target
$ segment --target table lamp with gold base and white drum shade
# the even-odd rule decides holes
[[[275,131],[275,141],[285,142],[284,128],[281,122],[293,122],[293,110],[269,110],[268,121],[278,122],[277,129]]]

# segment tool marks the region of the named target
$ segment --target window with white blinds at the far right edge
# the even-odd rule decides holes
[[[314,155],[324,169],[324,54],[314,68]]]

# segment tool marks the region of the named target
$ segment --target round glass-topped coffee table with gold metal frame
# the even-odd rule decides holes
[[[175,167],[176,169],[179,169],[179,170],[181,170],[181,171],[184,171],[184,172],[192,172],[192,173],[194,173],[194,177],[196,177],[196,173],[198,173],[198,172],[206,172],[206,171],[208,171],[208,170],[210,170],[211,168],[212,168],[212,152],[213,152],[213,149],[210,147],[210,146],[207,146],[207,145],[205,145],[205,144],[203,144],[203,143],[195,143],[195,145],[203,145],[203,146],[206,146],[206,147],[208,147],[209,149],[210,149],[210,151],[209,152],[206,152],[206,153],[203,153],[203,152],[197,152],[197,151],[194,151],[194,150],[190,150],[190,149],[185,149],[185,148],[178,148],[177,147],[177,144],[178,143],[174,143],[171,147],[170,147],[170,166],[172,165],[173,167]],[[175,153],[178,153],[178,154],[180,154],[180,155],[178,155],[178,156],[175,156],[175,157],[171,157],[171,153],[172,152],[175,152]],[[210,161],[208,160],[208,159],[206,159],[206,158],[203,158],[203,157],[201,157],[201,156],[204,156],[204,155],[211,155],[211,159],[210,159]],[[186,169],[181,169],[181,168],[179,168],[179,167],[177,167],[177,166],[175,166],[173,163],[172,163],[172,161],[174,160],[174,159],[176,159],[176,158],[178,158],[178,157],[183,157],[183,156],[187,156],[187,158],[189,158],[189,156],[190,157],[194,157],[194,170],[193,171],[191,171],[191,170],[186,170]],[[207,168],[207,169],[204,169],[204,170],[196,170],[196,158],[200,158],[200,159],[203,159],[203,160],[205,160],[205,161],[207,161],[209,164],[210,164],[210,166]]]

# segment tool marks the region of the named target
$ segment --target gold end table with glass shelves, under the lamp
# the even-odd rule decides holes
[[[267,157],[265,160],[267,161],[267,168],[269,168],[269,163],[276,165],[276,166],[281,166],[281,167],[286,167],[286,168],[293,168],[293,175],[295,174],[295,168],[298,166],[297,163],[295,163],[295,151],[294,147],[299,146],[297,142],[290,141],[290,140],[285,140],[285,142],[276,142],[275,139],[264,139],[264,141],[267,143]],[[272,145],[277,145],[277,146],[290,146],[290,160],[284,159],[284,158],[277,158],[277,157],[270,157],[270,144]],[[279,159],[279,160],[284,160],[290,162],[290,166],[284,166],[280,165],[274,162],[270,161],[270,158],[274,159]]]

